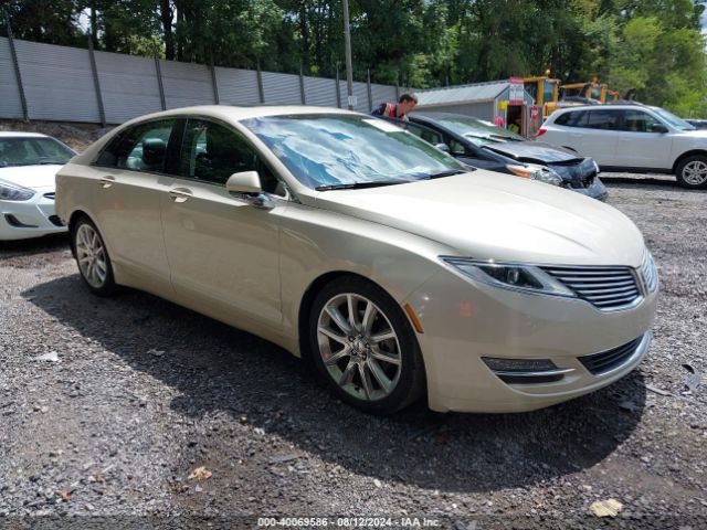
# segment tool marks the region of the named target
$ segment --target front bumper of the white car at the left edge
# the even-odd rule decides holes
[[[0,200],[0,241],[41,237],[66,230],[55,214],[52,192],[38,192],[29,201]]]

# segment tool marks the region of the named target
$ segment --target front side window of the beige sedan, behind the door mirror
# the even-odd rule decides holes
[[[238,131],[207,119],[189,119],[181,152],[181,171],[189,179],[225,186],[233,173],[257,171],[264,191],[284,188]]]

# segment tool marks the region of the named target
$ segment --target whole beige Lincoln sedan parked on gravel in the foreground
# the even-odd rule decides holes
[[[56,179],[89,290],[127,285],[264,337],[366,411],[424,393],[435,411],[534,410],[648,347],[657,275],[626,216],[370,116],[168,110]]]

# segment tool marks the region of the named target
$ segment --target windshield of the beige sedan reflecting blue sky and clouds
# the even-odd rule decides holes
[[[468,168],[426,141],[363,115],[287,115],[242,124],[312,189],[387,186]]]

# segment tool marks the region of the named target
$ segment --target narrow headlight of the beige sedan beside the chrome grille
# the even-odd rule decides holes
[[[493,285],[494,287],[541,293],[545,295],[577,297],[577,295],[562,283],[534,265],[483,262],[465,257],[440,257],[464,276],[475,282]]]

